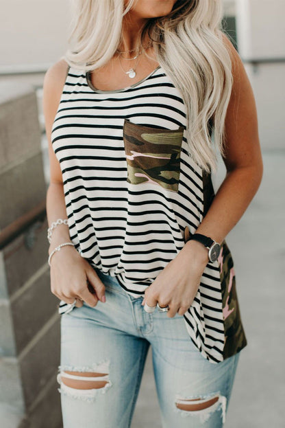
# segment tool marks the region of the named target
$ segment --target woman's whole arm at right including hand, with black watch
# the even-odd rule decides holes
[[[227,174],[196,232],[221,243],[238,223],[256,194],[262,179],[262,155],[258,137],[256,103],[245,67],[234,46],[225,37],[231,56],[233,87],[225,119]],[[208,249],[188,240],[145,291],[149,306],[169,304],[169,317],[184,315],[199,288],[208,264]],[[167,285],[166,285],[167,284]]]

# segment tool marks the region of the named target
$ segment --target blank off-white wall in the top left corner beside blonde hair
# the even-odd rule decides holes
[[[0,0],[0,72],[38,69],[66,49],[69,0]]]

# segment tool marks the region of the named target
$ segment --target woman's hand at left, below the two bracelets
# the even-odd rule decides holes
[[[92,291],[88,289],[88,282]],[[51,258],[51,293],[68,304],[73,303],[75,297],[80,297],[91,307],[96,306],[98,300],[106,302],[103,282],[71,245],[55,251]]]

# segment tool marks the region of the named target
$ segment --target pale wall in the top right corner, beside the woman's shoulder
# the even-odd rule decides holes
[[[236,0],[240,56],[256,97],[262,148],[285,148],[285,62],[247,63],[285,58],[285,0]]]

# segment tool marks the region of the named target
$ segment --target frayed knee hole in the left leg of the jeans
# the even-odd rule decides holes
[[[57,381],[61,385],[58,388],[60,393],[86,401],[93,401],[97,392],[104,394],[112,385],[106,362],[81,368],[60,365]]]

